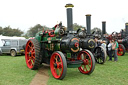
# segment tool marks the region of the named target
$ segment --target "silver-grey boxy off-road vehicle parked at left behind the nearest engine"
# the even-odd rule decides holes
[[[23,46],[26,45],[27,39],[1,39],[1,41],[3,45],[0,46],[0,51],[2,54],[16,56],[25,53]]]

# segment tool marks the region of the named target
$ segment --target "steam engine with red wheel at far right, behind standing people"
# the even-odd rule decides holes
[[[105,28],[103,28],[103,30],[105,30]],[[107,41],[107,44],[109,43],[109,40],[117,40],[117,42],[119,43],[117,55],[123,56],[125,54],[125,50],[128,50],[128,23],[125,24],[125,31],[121,30],[120,33],[112,32],[112,34],[106,35],[104,39]]]

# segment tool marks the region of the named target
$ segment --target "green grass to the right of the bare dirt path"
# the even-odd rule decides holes
[[[48,85],[128,85],[128,54],[118,56],[118,62],[96,64],[91,75],[81,74],[77,68],[68,68],[63,80],[53,78],[49,70]]]

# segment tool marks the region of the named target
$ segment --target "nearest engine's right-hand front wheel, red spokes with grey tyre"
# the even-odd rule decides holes
[[[82,60],[83,64],[78,67],[79,71],[83,74],[91,74],[95,69],[95,59],[89,50],[81,51],[78,54],[78,60]]]

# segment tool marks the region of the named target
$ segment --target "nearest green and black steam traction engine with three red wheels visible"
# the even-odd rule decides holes
[[[56,79],[63,79],[67,67],[78,68],[83,74],[91,74],[95,68],[93,49],[95,42],[91,38],[81,39],[73,31],[72,4],[67,4],[67,31],[62,23],[51,30],[36,34],[28,40],[25,49],[26,64],[29,69],[37,69],[41,63],[50,64],[51,73]]]

